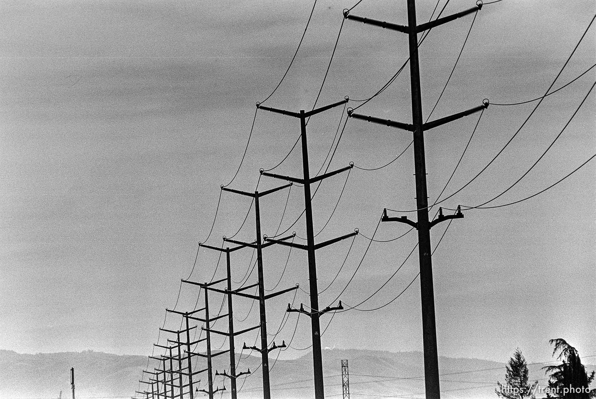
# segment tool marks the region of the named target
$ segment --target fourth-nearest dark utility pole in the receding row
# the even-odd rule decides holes
[[[225,252],[225,254],[226,254],[226,271],[227,271],[228,277],[225,280],[227,280],[227,283],[228,283],[228,287],[227,287],[228,293],[226,294],[226,296],[228,297],[228,332],[225,333],[225,332],[221,332],[221,331],[213,330],[213,329],[209,329],[208,332],[228,336],[228,339],[229,339],[229,374],[226,373],[225,371],[223,373],[219,373],[216,370],[215,375],[221,375],[221,376],[224,376],[224,377],[230,379],[230,393],[231,393],[232,399],[237,399],[236,379],[240,376],[250,374],[250,370],[248,372],[242,372],[242,373],[236,374],[234,337],[259,328],[259,326],[255,326],[255,327],[252,327],[249,329],[234,332],[234,307],[233,307],[233,302],[232,302],[232,275],[231,275],[231,270],[230,270],[230,256],[229,256],[229,254],[230,254],[230,252],[234,252],[235,250],[246,247],[246,245],[240,245],[240,246],[236,246],[234,248],[227,247],[225,249],[217,248],[217,247],[210,246],[210,245],[204,245],[203,243],[200,243],[199,246],[203,246],[204,248],[209,248],[209,249],[213,249],[213,250],[218,250],[219,252]],[[221,282],[221,281],[222,280],[219,280],[219,282]],[[191,282],[188,280],[182,280],[182,282],[196,284],[198,286],[203,287],[204,289],[211,289],[210,287],[205,286],[205,284],[201,284],[201,283],[195,283],[195,282]],[[253,284],[252,286],[244,287],[243,290],[248,289],[250,287],[254,287],[256,285],[257,284]]]

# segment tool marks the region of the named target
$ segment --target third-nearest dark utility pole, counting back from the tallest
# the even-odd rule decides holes
[[[281,290],[272,294],[265,294],[265,286],[264,286],[264,278],[263,278],[263,251],[262,249],[266,246],[273,245],[274,243],[266,243],[263,244],[262,242],[262,235],[261,235],[261,228],[260,228],[260,205],[259,205],[259,198],[264,197],[268,194],[275,193],[275,191],[283,190],[284,188],[290,187],[291,184],[285,184],[280,187],[272,188],[271,190],[263,191],[259,193],[259,191],[254,191],[254,193],[249,193],[247,191],[240,191],[240,190],[233,190],[232,188],[226,188],[223,185],[221,189],[223,191],[229,191],[231,193],[240,194],[247,197],[253,197],[254,199],[254,217],[255,217],[255,228],[256,228],[256,243],[246,243],[237,240],[231,240],[224,237],[224,241],[235,243],[237,245],[255,248],[257,251],[257,273],[259,275],[259,281],[257,282],[259,295],[250,295],[247,293],[239,292],[236,290],[232,293],[238,296],[245,296],[247,298],[256,299],[259,301],[259,318],[260,318],[260,337],[261,337],[261,347],[247,347],[246,343],[244,344],[243,348],[253,349],[254,351],[258,351],[261,354],[261,362],[262,362],[262,375],[263,375],[263,399],[271,399],[271,384],[269,382],[269,352],[273,349],[277,348],[284,348],[285,343],[282,345],[275,345],[272,348],[268,348],[267,342],[267,318],[266,318],[266,311],[265,311],[265,300],[269,298],[273,298],[274,296],[281,295],[286,292],[290,292],[292,290],[298,289],[298,287],[291,287],[285,290]],[[283,240],[290,239],[293,236],[285,237]],[[228,293],[227,291],[221,291],[223,293]]]

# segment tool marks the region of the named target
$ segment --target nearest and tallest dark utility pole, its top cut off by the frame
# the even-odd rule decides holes
[[[352,110],[348,110],[348,115],[355,119],[368,120],[369,122],[380,123],[382,125],[392,126],[414,133],[414,169],[416,177],[416,207],[418,221],[408,220],[406,216],[401,218],[389,218],[386,211],[383,215],[383,221],[403,222],[418,230],[418,256],[420,260],[420,291],[422,307],[422,329],[424,345],[424,381],[427,399],[439,399],[439,361],[437,355],[437,333],[434,316],[434,290],[433,290],[433,270],[430,246],[430,228],[436,222],[451,218],[462,218],[461,212],[457,215],[443,216],[432,223],[429,222],[429,202],[426,187],[426,160],[424,157],[424,131],[427,131],[452,120],[459,119],[472,113],[486,109],[489,105],[488,100],[483,100],[482,106],[456,113],[451,116],[443,117],[424,123],[422,115],[422,99],[420,91],[420,64],[418,63],[418,33],[433,27],[447,23],[468,14],[475,13],[482,8],[482,1],[476,2],[476,7],[452,14],[451,16],[437,18],[434,21],[418,25],[416,23],[416,5],[415,0],[408,0],[408,26],[377,21],[370,18],[351,16],[349,10],[344,10],[344,18],[360,21],[385,29],[397,30],[398,32],[408,34],[409,44],[409,63],[410,63],[410,85],[412,98],[412,124],[395,122],[393,120],[381,119],[373,116],[357,115]]]

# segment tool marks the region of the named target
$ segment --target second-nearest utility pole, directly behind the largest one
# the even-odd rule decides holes
[[[300,112],[292,112],[282,109],[275,109],[271,107],[265,107],[257,103],[257,108],[262,110],[281,113],[282,115],[292,116],[300,119],[300,140],[302,140],[302,174],[303,178],[294,178],[289,176],[282,176],[274,173],[264,172],[262,169],[260,173],[264,176],[274,177],[282,180],[287,180],[292,183],[300,183],[304,185],[304,202],[305,202],[305,216],[306,216],[306,243],[307,245],[298,245],[294,243],[285,243],[281,242],[280,240],[272,240],[266,239],[270,242],[276,242],[282,245],[294,246],[296,248],[306,249],[308,251],[308,274],[309,274],[309,290],[311,295],[311,330],[312,330],[312,363],[313,363],[313,374],[314,374],[314,382],[315,382],[315,399],[324,399],[324,385],[323,385],[323,361],[322,361],[322,354],[321,354],[321,326],[319,323],[319,294],[318,294],[318,287],[316,284],[316,258],[315,258],[315,249],[321,248],[322,246],[332,244],[339,240],[345,239],[347,237],[351,237],[354,234],[358,234],[357,232],[348,234],[347,236],[339,237],[338,239],[329,240],[328,242],[315,245],[315,233],[313,231],[313,224],[312,224],[312,195],[311,195],[311,184],[316,183],[317,181],[321,181],[325,178],[331,177],[338,173],[347,171],[348,169],[353,167],[353,163],[350,163],[350,166],[346,166],[346,168],[338,169],[337,171],[328,172],[323,175],[319,175],[317,177],[310,177],[309,172],[309,164],[308,164],[308,142],[306,141],[306,119],[313,115],[316,115],[320,112],[326,111],[328,109],[332,109],[334,107],[340,106],[342,104],[347,103],[349,98],[345,98],[342,101],[338,101],[337,103],[330,104],[328,106],[320,107],[318,109],[314,109],[312,111],[305,112],[304,110],[300,110]]]

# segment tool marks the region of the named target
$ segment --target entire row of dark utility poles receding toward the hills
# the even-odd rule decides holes
[[[431,122],[424,122],[422,113],[422,100],[420,90],[420,66],[418,63],[418,33],[425,32],[434,27],[440,26],[441,24],[455,20],[468,14],[475,13],[482,8],[482,1],[478,1],[476,6],[469,10],[462,11],[460,13],[452,14],[448,17],[437,18],[436,20],[429,21],[428,23],[417,24],[416,21],[416,10],[415,0],[408,0],[408,25],[403,26],[395,23],[388,23],[386,21],[377,21],[371,18],[353,16],[349,13],[349,10],[344,10],[344,18],[349,20],[360,21],[362,23],[372,24],[374,26],[383,27],[385,29],[397,30],[398,32],[406,33],[408,35],[409,44],[409,63],[410,63],[410,76],[411,76],[411,106],[412,106],[412,123],[397,122],[388,119],[381,119],[374,116],[365,116],[358,113],[354,113],[352,109],[348,109],[348,116],[353,119],[367,120],[368,122],[380,123],[382,125],[391,126],[393,128],[403,129],[405,131],[412,132],[414,136],[414,169],[415,169],[415,186],[416,186],[416,206],[417,206],[417,221],[412,221],[405,216],[400,218],[389,217],[387,212],[383,212],[382,221],[396,221],[406,223],[416,228],[418,231],[418,255],[420,261],[420,286],[421,286],[421,307],[422,307],[422,330],[423,330],[423,345],[424,345],[424,375],[426,384],[426,398],[427,399],[438,399],[440,398],[439,388],[439,369],[437,361],[437,344],[436,344],[436,325],[434,316],[434,293],[433,293],[433,273],[432,273],[432,258],[431,258],[431,246],[430,246],[430,228],[436,225],[438,222],[445,221],[447,219],[462,218],[461,212],[457,212],[455,215],[443,215],[440,212],[439,218],[429,221],[429,203],[427,196],[427,183],[426,183],[426,160],[424,156],[424,131],[427,131],[437,126],[443,125],[444,123],[451,122],[452,120],[460,117],[471,115],[472,113],[479,112],[488,107],[488,100],[483,101],[483,104],[474,107],[473,109],[457,113],[452,116],[443,117]],[[280,180],[288,181],[289,184],[281,185],[271,190],[266,191],[254,191],[247,192],[241,190],[235,190],[222,186],[221,189],[229,191],[231,193],[239,194],[241,196],[251,197],[254,201],[254,214],[255,214],[255,234],[254,239],[247,241],[226,239],[224,241],[232,243],[234,247],[216,248],[209,245],[200,244],[203,248],[224,252],[226,255],[227,264],[227,276],[225,279],[216,280],[209,283],[197,283],[190,280],[182,280],[183,283],[193,284],[200,287],[204,291],[204,308],[193,310],[189,312],[181,312],[175,310],[167,310],[169,313],[175,313],[182,316],[185,328],[181,330],[166,330],[162,329],[163,332],[170,333],[175,336],[175,339],[168,339],[168,345],[157,345],[156,347],[165,349],[166,354],[160,357],[151,357],[161,363],[161,368],[156,367],[154,371],[144,371],[147,373],[148,379],[142,379],[141,382],[147,385],[147,389],[143,391],[137,391],[136,393],[142,395],[145,398],[159,399],[166,398],[184,398],[185,395],[193,399],[194,381],[195,376],[200,373],[207,373],[207,389],[197,389],[198,392],[204,392],[209,395],[209,398],[213,398],[215,392],[227,390],[225,386],[223,388],[213,388],[213,370],[212,370],[212,358],[229,352],[229,373],[224,371],[223,373],[216,372],[216,375],[224,376],[230,380],[230,393],[232,399],[237,397],[237,384],[236,380],[242,375],[250,374],[250,370],[246,372],[238,373],[236,370],[235,360],[235,347],[234,338],[238,335],[242,335],[254,329],[260,331],[260,347],[247,347],[244,344],[243,349],[252,349],[253,351],[260,352],[261,355],[261,368],[262,368],[262,388],[263,398],[271,398],[271,382],[269,379],[269,357],[270,351],[278,348],[284,348],[285,342],[281,345],[269,344],[267,338],[267,323],[266,323],[266,301],[267,299],[274,298],[275,296],[281,295],[286,292],[297,289],[297,285],[281,290],[279,292],[266,294],[264,287],[264,270],[263,270],[263,254],[262,250],[271,245],[283,245],[291,246],[306,250],[308,253],[308,276],[309,276],[309,293],[310,293],[310,310],[304,310],[303,306],[300,308],[292,308],[288,304],[287,312],[299,312],[306,314],[311,318],[311,338],[312,338],[312,358],[313,358],[313,385],[314,385],[314,397],[315,399],[324,398],[324,381],[322,372],[322,354],[321,354],[321,327],[319,318],[328,312],[341,310],[342,305],[339,302],[337,307],[325,307],[324,309],[319,308],[318,302],[318,287],[317,287],[317,269],[316,269],[316,256],[315,252],[317,249],[323,248],[327,245],[339,242],[340,240],[347,239],[349,237],[358,234],[358,229],[355,229],[352,233],[345,234],[331,240],[327,240],[321,243],[315,243],[315,234],[313,232],[313,217],[312,217],[312,191],[311,185],[320,182],[326,178],[333,177],[336,174],[348,171],[353,167],[353,164],[345,166],[344,168],[337,169],[336,171],[327,172],[322,175],[316,175],[315,177],[310,176],[309,171],[309,159],[308,159],[308,140],[306,135],[306,123],[307,120],[319,113],[325,112],[326,110],[333,109],[334,107],[346,104],[349,98],[345,97],[344,100],[338,101],[337,103],[330,104],[328,106],[313,109],[311,111],[300,110],[294,112],[291,110],[277,109],[274,107],[266,107],[259,103],[256,104],[260,110],[265,110],[272,113],[279,113],[281,115],[294,117],[299,120],[300,125],[300,141],[302,143],[302,177],[291,177],[285,175],[274,174],[265,172],[261,169],[260,174],[265,177],[277,178]],[[292,184],[300,184],[303,188],[304,202],[305,202],[305,220],[306,220],[306,245],[294,243],[290,239],[293,237],[266,237],[262,235],[261,231],[261,218],[260,218],[260,199],[267,196],[268,194],[275,193],[279,190],[284,190],[290,187]],[[230,255],[232,252],[249,248],[256,250],[257,253],[257,273],[258,281],[255,284],[243,286],[238,289],[232,289],[232,279],[230,271]],[[226,283],[225,287],[218,287],[220,283]],[[257,287],[257,295],[251,295],[246,293],[247,289]],[[209,292],[224,294],[228,302],[228,313],[212,317],[209,314]],[[259,301],[259,324],[252,326],[247,329],[236,331],[234,329],[234,317],[233,317],[233,298],[247,298],[253,299],[253,301]],[[204,311],[204,317],[196,317],[195,314]],[[217,320],[218,318],[228,317],[228,331],[223,332],[212,329],[210,323]],[[205,334],[205,338],[199,338],[195,341],[191,341],[190,331],[197,328],[196,325],[191,326],[196,322],[203,323],[201,327],[200,336]],[[228,338],[229,348],[225,351],[213,353],[211,349],[211,334],[223,335]],[[206,341],[207,350],[206,354],[194,352],[191,347],[198,344],[199,342]],[[207,367],[202,370],[193,371],[193,357],[203,357],[207,360]],[[184,377],[184,378],[183,378]],[[345,393],[345,392],[344,392]]]

